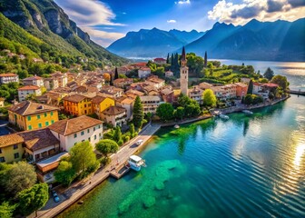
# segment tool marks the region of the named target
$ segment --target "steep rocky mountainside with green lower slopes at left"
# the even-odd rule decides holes
[[[0,0],[0,12],[4,29],[0,36],[6,43],[20,43],[39,56],[90,57],[103,64],[126,62],[95,44],[53,0]]]

